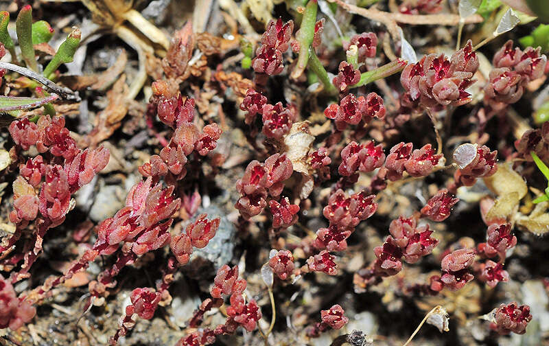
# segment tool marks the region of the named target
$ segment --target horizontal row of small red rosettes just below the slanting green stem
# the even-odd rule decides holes
[[[377,93],[369,93],[366,97],[349,94],[343,97],[339,104],[330,104],[324,115],[334,119],[336,128],[342,131],[347,125],[357,125],[360,122],[368,124],[373,118],[383,119],[385,106],[382,97]]]

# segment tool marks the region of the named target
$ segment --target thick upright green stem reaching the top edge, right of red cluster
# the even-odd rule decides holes
[[[316,23],[317,10],[318,3],[316,3],[316,0],[310,0],[309,3],[307,3],[307,6],[305,6],[301,27],[296,34],[296,40],[299,42],[299,57],[297,58],[296,67],[294,67],[294,71],[292,71],[293,79],[299,78],[303,74],[303,71],[305,71],[305,67],[307,67],[309,47],[314,38],[314,23]]]

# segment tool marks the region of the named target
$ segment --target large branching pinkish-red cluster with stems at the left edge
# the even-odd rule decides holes
[[[36,124],[23,117],[12,122],[9,130],[16,144],[12,156],[20,162],[25,158],[19,152],[29,150],[31,146],[43,154],[19,165],[21,175],[13,183],[14,210],[10,213],[10,221],[17,229],[7,246],[0,246],[0,252],[9,249],[19,240],[21,231],[29,222],[36,220],[35,240],[30,246],[34,249],[25,255],[21,272],[12,273],[14,281],[19,281],[27,276],[30,266],[42,251],[42,240],[47,230],[65,220],[71,195],[105,168],[109,152],[103,147],[79,149],[65,128],[63,117],[43,115]]]

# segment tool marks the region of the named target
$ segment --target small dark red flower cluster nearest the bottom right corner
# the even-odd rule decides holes
[[[530,321],[532,321],[530,307],[528,305],[519,306],[513,301],[513,303],[502,304],[495,310],[490,328],[501,335],[507,335],[511,332],[524,334]]]

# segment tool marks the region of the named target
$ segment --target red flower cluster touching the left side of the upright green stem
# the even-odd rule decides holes
[[[257,73],[265,73],[269,76],[282,72],[284,65],[282,54],[290,47],[290,38],[294,31],[294,21],[283,23],[282,19],[271,19],[267,30],[261,37],[261,46],[255,51],[252,67]]]

